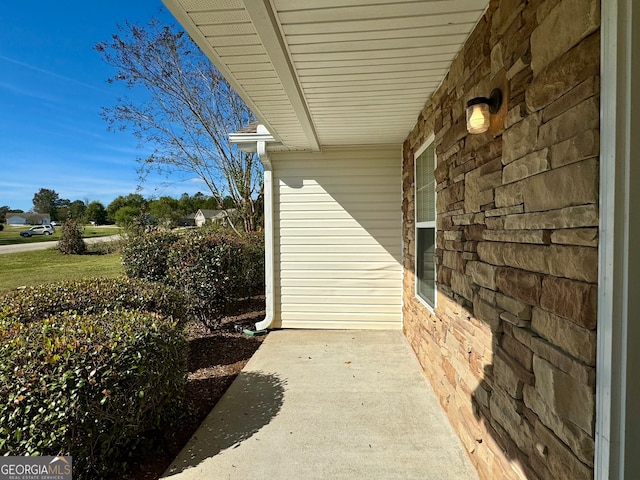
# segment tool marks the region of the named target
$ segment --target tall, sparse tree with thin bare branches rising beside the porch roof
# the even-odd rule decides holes
[[[146,90],[147,100],[121,99],[103,110],[111,128],[131,128],[154,152],[139,159],[139,173],[186,172],[205,182],[217,204],[233,200],[246,231],[255,230],[256,199],[262,184],[255,154],[231,145],[228,134],[254,119],[242,99],[174,26],[152,19],[141,27],[126,23],[95,49],[116,68],[109,82]]]

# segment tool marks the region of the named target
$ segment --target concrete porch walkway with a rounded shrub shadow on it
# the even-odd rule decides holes
[[[477,475],[401,332],[281,330],[162,478]]]

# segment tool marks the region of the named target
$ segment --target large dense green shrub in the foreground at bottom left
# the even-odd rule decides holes
[[[154,313],[0,315],[0,454],[67,454],[74,478],[119,477],[177,417],[186,352],[183,329]]]

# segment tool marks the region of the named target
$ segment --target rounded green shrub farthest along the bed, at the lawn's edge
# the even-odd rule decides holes
[[[171,232],[131,235],[122,249],[122,264],[127,276],[153,281],[167,277],[167,258],[179,236]]]

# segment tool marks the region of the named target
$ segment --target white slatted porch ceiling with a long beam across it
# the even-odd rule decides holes
[[[489,0],[163,0],[288,149],[399,144]]]

